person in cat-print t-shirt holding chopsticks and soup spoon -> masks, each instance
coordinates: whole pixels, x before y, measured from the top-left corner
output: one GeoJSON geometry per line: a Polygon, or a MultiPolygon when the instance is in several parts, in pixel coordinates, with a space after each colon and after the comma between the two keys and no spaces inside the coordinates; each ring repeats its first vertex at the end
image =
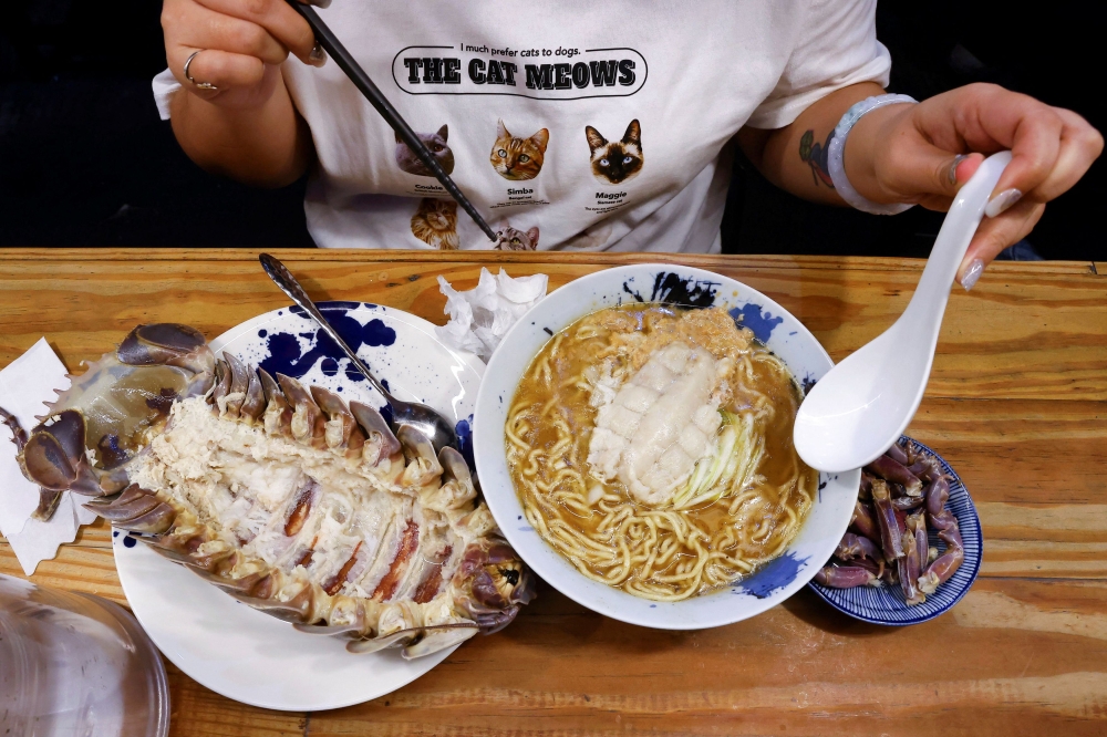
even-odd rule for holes
{"type": "MultiPolygon", "coordinates": [[[[883,214],[948,209],[986,154],[1011,149],[958,273],[971,288],[1103,137],[995,85],[887,95],[875,14],[875,0],[337,0],[321,13],[499,248],[718,252],[733,145],[795,195],[883,214]]],[[[260,186],[310,168],[321,247],[493,246],[284,0],[165,0],[162,24],[155,96],[199,166],[260,186]]]]}

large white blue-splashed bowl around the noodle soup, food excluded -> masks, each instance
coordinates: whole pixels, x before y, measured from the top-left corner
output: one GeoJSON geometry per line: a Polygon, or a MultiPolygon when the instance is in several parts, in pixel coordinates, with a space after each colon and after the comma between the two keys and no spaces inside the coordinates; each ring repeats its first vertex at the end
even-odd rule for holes
{"type": "Polygon", "coordinates": [[[788,549],[749,578],[710,595],[652,602],[580,574],[527,523],[507,469],[504,426],[527,366],[551,335],[596,310],[627,302],[726,307],[779,356],[805,387],[832,362],[815,336],[779,304],[745,284],[702,269],[640,264],[578,279],[539,302],[508,332],[485,371],[475,408],[477,474],[496,521],[519,556],[558,591],[615,620],[663,630],[738,622],[801,589],[841,540],[857,499],[860,469],[819,476],[815,505],[788,549]]]}

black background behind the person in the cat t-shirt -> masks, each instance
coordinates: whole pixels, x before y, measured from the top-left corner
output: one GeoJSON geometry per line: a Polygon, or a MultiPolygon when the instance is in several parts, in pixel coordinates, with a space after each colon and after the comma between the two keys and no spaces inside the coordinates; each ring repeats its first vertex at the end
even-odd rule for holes
{"type": "MultiPolygon", "coordinates": [[[[877,29],[892,54],[890,89],[921,100],[995,82],[1103,129],[1095,50],[1104,42],[1087,8],[882,2],[877,29]]],[[[208,175],[158,120],[151,79],[165,68],[159,12],[152,0],[6,3],[0,246],[312,246],[303,181],[261,190],[208,175]]],[[[1022,257],[1101,258],[1093,222],[1107,199],[1105,176],[1097,163],[1051,204],[1022,257]]],[[[738,162],[723,243],[727,252],[924,257],[941,219],[922,208],[879,218],[811,205],[738,162]]]]}

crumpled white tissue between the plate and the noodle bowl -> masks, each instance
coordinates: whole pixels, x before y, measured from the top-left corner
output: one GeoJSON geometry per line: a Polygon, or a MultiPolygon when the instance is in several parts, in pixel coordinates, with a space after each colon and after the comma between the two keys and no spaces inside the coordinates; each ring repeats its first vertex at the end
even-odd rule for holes
{"type": "Polygon", "coordinates": [[[487,361],[511,325],[546,297],[548,284],[544,273],[513,279],[503,269],[494,277],[483,268],[476,289],[459,292],[438,277],[449,322],[435,328],[435,333],[443,343],[487,361]]]}

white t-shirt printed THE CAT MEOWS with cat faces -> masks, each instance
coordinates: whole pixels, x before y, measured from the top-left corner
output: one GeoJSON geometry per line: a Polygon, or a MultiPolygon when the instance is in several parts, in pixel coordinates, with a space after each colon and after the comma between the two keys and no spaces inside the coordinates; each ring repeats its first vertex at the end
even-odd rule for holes
{"type": "MultiPolygon", "coordinates": [[[[717,252],[727,143],[887,84],[875,0],[335,0],[320,12],[505,246],[717,252]],[[514,242],[513,242],[514,241],[514,242]]],[[[489,248],[333,60],[284,82],[328,248],[489,248]]],[[[163,117],[179,89],[154,83],[163,117]]],[[[797,153],[798,155],[798,153],[797,153]]]]}

